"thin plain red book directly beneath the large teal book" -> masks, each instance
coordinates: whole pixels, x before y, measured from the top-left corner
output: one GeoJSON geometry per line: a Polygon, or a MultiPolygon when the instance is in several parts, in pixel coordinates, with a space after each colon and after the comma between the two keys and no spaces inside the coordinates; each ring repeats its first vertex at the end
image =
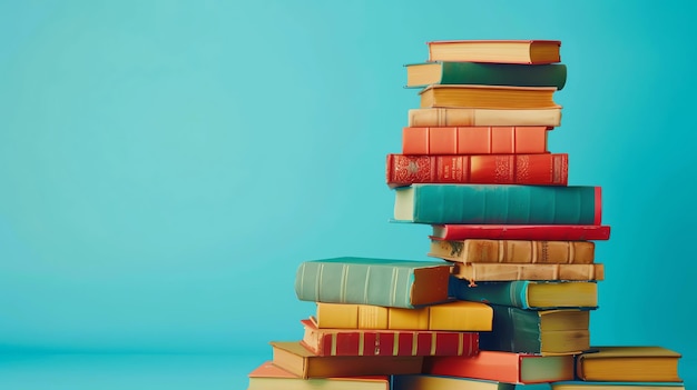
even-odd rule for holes
{"type": "Polygon", "coordinates": [[[433,224],[431,238],[439,240],[542,240],[591,241],[610,239],[602,224],[433,224]]]}

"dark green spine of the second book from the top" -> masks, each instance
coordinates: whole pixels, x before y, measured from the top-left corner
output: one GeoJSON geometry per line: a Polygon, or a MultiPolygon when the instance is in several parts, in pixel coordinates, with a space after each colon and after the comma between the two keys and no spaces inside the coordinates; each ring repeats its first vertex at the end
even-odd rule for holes
{"type": "Polygon", "coordinates": [[[442,62],[441,84],[556,87],[567,82],[565,64],[442,62]]]}

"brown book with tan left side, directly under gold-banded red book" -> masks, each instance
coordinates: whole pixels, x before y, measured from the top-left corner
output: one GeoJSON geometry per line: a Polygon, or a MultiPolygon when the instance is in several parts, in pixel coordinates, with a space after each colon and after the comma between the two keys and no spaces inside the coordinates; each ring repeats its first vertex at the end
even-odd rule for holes
{"type": "Polygon", "coordinates": [[[271,344],[273,364],[304,379],[420,373],[423,362],[423,357],[320,357],[300,341],[272,341],[271,344]]]}

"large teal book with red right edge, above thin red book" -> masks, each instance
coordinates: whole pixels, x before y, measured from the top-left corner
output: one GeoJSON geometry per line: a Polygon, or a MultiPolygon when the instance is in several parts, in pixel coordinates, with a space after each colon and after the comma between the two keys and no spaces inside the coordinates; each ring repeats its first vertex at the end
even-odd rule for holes
{"type": "Polygon", "coordinates": [[[411,184],[394,189],[395,222],[600,224],[592,186],[411,184]]]}

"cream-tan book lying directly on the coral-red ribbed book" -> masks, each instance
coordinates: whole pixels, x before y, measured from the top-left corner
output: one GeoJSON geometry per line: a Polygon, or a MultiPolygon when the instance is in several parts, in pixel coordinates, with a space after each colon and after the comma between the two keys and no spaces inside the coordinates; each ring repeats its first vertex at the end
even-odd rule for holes
{"type": "Polygon", "coordinates": [[[518,110],[423,108],[409,110],[409,127],[443,126],[561,126],[561,108],[518,110]]]}

